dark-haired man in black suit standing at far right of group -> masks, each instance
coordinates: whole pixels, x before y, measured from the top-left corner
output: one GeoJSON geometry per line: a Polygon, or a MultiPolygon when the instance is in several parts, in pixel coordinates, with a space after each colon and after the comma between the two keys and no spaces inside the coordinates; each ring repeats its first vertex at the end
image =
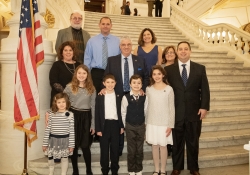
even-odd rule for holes
{"type": "Polygon", "coordinates": [[[209,110],[210,91],[205,66],[190,61],[191,47],[186,41],[177,46],[178,61],[166,66],[167,79],[175,94],[175,127],[173,132],[173,171],[184,169],[185,144],[187,167],[200,175],[198,165],[202,119],[209,110]]]}

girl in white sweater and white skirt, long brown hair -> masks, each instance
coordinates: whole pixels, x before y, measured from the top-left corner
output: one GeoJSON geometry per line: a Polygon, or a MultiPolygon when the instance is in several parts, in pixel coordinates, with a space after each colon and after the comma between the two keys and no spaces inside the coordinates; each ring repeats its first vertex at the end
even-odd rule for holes
{"type": "Polygon", "coordinates": [[[168,85],[166,72],[160,65],[152,67],[146,95],[148,96],[146,141],[152,144],[155,166],[153,175],[165,175],[168,157],[166,145],[173,144],[172,128],[175,123],[175,108],[173,89],[168,85]]]}

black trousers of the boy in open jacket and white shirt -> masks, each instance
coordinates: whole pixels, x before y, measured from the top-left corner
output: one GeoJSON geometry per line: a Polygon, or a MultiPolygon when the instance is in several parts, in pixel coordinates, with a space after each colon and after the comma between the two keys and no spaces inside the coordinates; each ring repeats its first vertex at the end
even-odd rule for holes
{"type": "Polygon", "coordinates": [[[108,174],[109,169],[113,175],[118,174],[119,169],[119,135],[118,120],[105,120],[104,131],[100,137],[102,174],[108,174]],[[109,168],[109,157],[111,166],[109,168]]]}

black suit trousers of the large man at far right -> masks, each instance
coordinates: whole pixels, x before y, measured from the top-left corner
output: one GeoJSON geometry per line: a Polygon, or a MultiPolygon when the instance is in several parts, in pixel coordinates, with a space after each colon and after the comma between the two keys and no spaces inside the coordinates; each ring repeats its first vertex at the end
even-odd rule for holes
{"type": "Polygon", "coordinates": [[[202,121],[180,121],[175,123],[173,133],[173,169],[184,169],[185,144],[187,149],[187,168],[199,170],[199,138],[201,134],[202,121]]]}

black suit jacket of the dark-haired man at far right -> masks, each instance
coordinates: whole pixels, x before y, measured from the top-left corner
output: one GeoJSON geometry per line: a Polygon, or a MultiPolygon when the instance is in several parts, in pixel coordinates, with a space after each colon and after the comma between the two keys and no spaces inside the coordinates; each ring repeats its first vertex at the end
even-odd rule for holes
{"type": "Polygon", "coordinates": [[[183,84],[178,61],[164,68],[175,95],[175,122],[199,121],[199,109],[209,110],[210,91],[203,65],[190,61],[190,73],[186,87],[183,84]]]}

